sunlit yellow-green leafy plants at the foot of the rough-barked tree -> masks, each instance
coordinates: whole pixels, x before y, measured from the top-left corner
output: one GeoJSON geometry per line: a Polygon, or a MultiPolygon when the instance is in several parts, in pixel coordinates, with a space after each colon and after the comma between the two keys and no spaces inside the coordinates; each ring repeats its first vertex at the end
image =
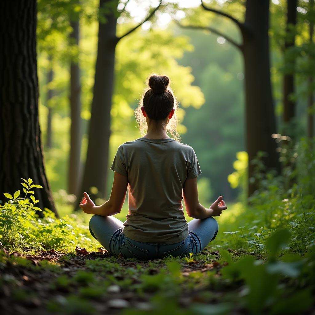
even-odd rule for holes
{"type": "Polygon", "coordinates": [[[0,205],[1,246],[7,249],[72,249],[76,244],[91,246],[91,239],[85,235],[87,227],[76,215],[56,218],[49,209],[39,218],[37,212],[42,209],[35,206],[39,202],[34,197],[34,188],[43,188],[33,181],[23,179],[24,198],[20,190],[13,196],[4,193],[9,202],[0,205]]]}

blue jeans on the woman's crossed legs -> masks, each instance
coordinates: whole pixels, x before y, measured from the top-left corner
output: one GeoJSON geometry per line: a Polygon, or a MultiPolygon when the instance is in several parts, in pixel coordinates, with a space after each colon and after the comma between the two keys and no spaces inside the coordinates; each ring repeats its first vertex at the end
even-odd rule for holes
{"type": "Polygon", "coordinates": [[[89,229],[104,248],[112,255],[122,254],[124,258],[156,259],[168,255],[179,257],[193,253],[200,253],[215,239],[219,226],[215,218],[193,219],[188,222],[188,236],[181,242],[148,243],[134,241],[123,234],[123,222],[113,216],[104,217],[93,215],[89,229]]]}

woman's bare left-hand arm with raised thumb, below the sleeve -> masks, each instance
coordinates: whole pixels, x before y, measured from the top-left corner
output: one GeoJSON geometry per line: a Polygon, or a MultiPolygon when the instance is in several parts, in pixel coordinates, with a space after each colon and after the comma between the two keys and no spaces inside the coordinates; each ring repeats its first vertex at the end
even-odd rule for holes
{"type": "Polygon", "coordinates": [[[80,207],[85,213],[93,215],[110,216],[121,211],[126,198],[128,186],[128,177],[115,172],[112,186],[111,196],[109,200],[100,206],[95,206],[95,203],[90,199],[89,195],[84,192],[84,198],[80,203],[80,207]]]}

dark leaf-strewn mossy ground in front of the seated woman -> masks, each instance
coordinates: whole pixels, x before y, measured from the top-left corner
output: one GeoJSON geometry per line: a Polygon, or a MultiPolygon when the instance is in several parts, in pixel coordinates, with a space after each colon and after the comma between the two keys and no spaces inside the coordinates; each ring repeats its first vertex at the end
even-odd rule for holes
{"type": "MultiPolygon", "coordinates": [[[[233,252],[232,257],[243,255],[233,252]]],[[[218,252],[140,261],[107,251],[1,252],[2,314],[233,314],[242,285],[218,284],[218,252]]],[[[219,281],[220,283],[221,281],[219,281]]]]}

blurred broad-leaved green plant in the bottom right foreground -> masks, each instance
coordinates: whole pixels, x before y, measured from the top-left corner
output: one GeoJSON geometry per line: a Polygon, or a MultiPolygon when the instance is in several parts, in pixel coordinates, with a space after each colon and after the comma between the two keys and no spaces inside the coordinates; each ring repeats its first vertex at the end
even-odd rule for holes
{"type": "MultiPolygon", "coordinates": [[[[283,243],[289,241],[289,230],[283,229],[275,232],[268,239],[267,247],[270,255],[275,255],[283,243]]],[[[297,293],[292,293],[289,286],[281,286],[283,277],[298,278],[302,276],[302,266],[307,265],[309,257],[302,259],[295,256],[293,261],[260,261],[253,256],[243,256],[234,262],[227,251],[220,251],[223,260],[228,261],[228,266],[221,270],[222,277],[229,281],[243,281],[241,297],[245,306],[251,314],[296,314],[303,312],[312,305],[312,295],[309,288],[302,289],[297,293]],[[291,295],[293,294],[293,295],[291,295]],[[286,297],[291,295],[293,301],[286,301],[286,297]],[[296,305],[298,299],[301,298],[296,305]]],[[[274,257],[274,256],[271,256],[274,257]]],[[[305,278],[299,279],[301,284],[305,283],[305,278]]],[[[310,277],[307,277],[308,284],[311,284],[310,277]]]]}

